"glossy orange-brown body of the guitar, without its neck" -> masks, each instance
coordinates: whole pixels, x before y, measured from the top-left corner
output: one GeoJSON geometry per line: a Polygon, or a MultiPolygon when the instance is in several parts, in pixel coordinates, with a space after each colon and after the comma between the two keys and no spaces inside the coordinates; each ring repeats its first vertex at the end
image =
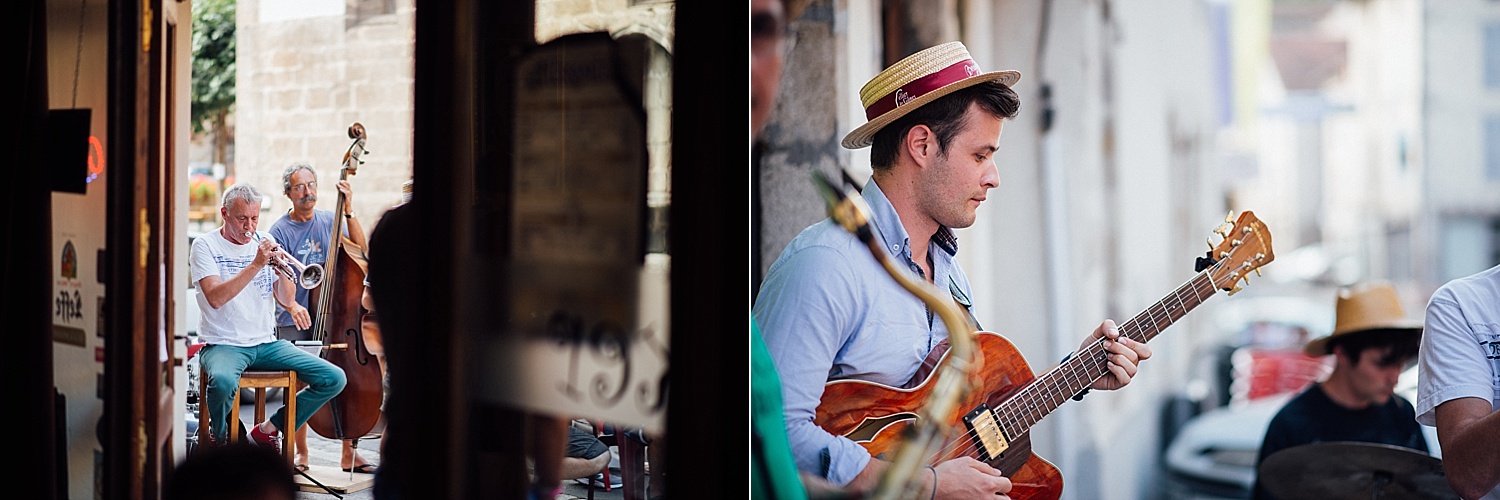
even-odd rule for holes
{"type": "MultiPolygon", "coordinates": [[[[958,456],[974,456],[974,446],[969,446],[963,435],[962,417],[964,413],[987,405],[998,408],[1012,393],[1036,378],[1026,359],[1016,350],[1016,345],[1004,336],[992,332],[976,332],[974,363],[976,371],[975,389],[963,402],[957,405],[957,413],[946,422],[956,429],[944,441],[940,452],[928,459],[928,464],[939,464],[958,456]],[[958,441],[958,443],[956,443],[958,441]]],[[[934,381],[927,377],[932,366],[938,366],[946,357],[946,345],[934,348],[916,372],[914,380],[921,383],[910,387],[891,387],[862,380],[836,380],[824,386],[824,396],[818,404],[818,414],[813,422],[828,432],[844,435],[870,450],[872,455],[894,456],[900,446],[903,431],[916,423],[916,413],[934,381]]],[[[1011,479],[1014,489],[1011,498],[1041,498],[1054,500],[1062,495],[1062,473],[1058,467],[1030,452],[1030,432],[1010,437],[1010,447],[987,461],[1011,479]]]]}

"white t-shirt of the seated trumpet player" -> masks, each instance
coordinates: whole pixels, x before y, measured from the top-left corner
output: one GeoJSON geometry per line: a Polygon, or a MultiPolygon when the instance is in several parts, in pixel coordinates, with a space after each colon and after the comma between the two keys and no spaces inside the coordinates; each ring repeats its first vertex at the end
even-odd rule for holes
{"type": "MultiPolygon", "coordinates": [[[[230,281],[242,269],[255,261],[255,249],[260,246],[254,239],[244,245],[236,245],[224,239],[224,228],[204,234],[192,242],[192,281],[198,282],[204,276],[219,276],[219,281],[230,281]]],[[[261,239],[268,239],[266,233],[258,233],[261,239]]],[[[272,285],[276,282],[276,272],[272,266],[264,266],[244,290],[214,309],[208,305],[208,294],[198,294],[198,311],[202,321],[198,326],[198,338],[206,344],[250,347],[276,341],[276,299],[272,296],[272,285]]]]}

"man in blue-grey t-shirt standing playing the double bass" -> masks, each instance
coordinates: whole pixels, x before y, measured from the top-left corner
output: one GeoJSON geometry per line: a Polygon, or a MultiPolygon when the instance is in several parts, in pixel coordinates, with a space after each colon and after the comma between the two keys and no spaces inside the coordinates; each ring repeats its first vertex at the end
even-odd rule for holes
{"type": "MultiPolygon", "coordinates": [[[[340,234],[356,246],[364,248],[364,228],[358,216],[354,215],[354,191],[348,180],[339,180],[338,189],[344,194],[344,213],[334,215],[332,210],[320,210],[318,206],[318,173],[308,164],[292,164],[282,170],[282,194],[291,200],[286,215],[272,224],[272,237],[292,258],[306,266],[327,266],[328,248],[333,242],[333,224],[342,222],[340,234]]],[[[302,311],[308,308],[309,290],[297,287],[297,305],[302,311]]],[[[288,341],[312,339],[312,330],[296,321],[297,309],[279,308],[276,311],[276,336],[288,341]]],[[[356,473],[375,473],[370,464],[354,450],[351,440],[344,440],[340,468],[356,473]]],[[[297,429],[296,465],[298,470],[308,468],[308,429],[297,429]]]]}

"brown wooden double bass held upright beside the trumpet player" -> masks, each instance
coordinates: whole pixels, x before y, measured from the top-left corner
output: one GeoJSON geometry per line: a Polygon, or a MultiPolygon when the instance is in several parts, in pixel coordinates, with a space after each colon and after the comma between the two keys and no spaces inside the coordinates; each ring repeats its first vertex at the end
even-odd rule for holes
{"type": "MultiPolygon", "coordinates": [[[[351,125],[350,138],[352,143],[339,168],[340,182],[358,170],[360,156],[364,155],[364,126],[358,122],[351,125]]],[[[334,216],[344,213],[345,203],[348,200],[339,192],[333,206],[334,216]]],[[[312,338],[322,342],[320,356],[342,368],[348,383],[344,392],[308,419],[308,425],[327,438],[357,440],[380,422],[384,399],[381,368],[360,327],[364,315],[360,305],[364,291],[363,249],[345,242],[344,224],[339,222],[333,224],[328,242],[322,284],[308,296],[309,309],[316,311],[312,338]]]]}

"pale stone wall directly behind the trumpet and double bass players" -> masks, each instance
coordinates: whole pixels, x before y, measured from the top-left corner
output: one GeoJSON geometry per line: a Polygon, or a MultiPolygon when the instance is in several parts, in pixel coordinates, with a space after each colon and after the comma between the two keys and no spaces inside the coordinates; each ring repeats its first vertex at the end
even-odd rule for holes
{"type": "Polygon", "coordinates": [[[348,179],[366,231],[400,201],[400,185],[411,179],[412,0],[360,18],[344,6],[238,5],[234,174],[270,197],[262,228],[291,207],[280,176],[296,162],[318,171],[318,207],[333,209],[354,122],[364,125],[368,153],[348,179]]]}

